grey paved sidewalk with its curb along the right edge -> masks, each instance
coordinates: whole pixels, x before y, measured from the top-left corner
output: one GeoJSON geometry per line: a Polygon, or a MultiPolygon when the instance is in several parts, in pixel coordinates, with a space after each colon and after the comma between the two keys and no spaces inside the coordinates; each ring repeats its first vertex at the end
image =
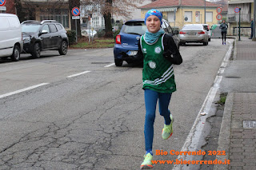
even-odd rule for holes
{"type": "MultiPolygon", "coordinates": [[[[230,61],[226,79],[228,96],[218,140],[218,151],[230,164],[218,164],[219,169],[256,169],[256,42],[241,38],[234,45],[234,60],[230,61]],[[232,75],[232,76],[230,76],[232,75]]],[[[226,71],[225,71],[226,72],[226,71]]],[[[224,91],[225,91],[224,90],[224,91]]]]}

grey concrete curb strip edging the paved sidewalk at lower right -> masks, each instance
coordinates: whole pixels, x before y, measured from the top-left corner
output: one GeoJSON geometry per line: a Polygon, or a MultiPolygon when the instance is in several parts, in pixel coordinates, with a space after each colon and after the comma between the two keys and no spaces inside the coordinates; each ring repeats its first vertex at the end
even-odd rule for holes
{"type": "MultiPolygon", "coordinates": [[[[233,109],[234,93],[228,93],[225,102],[225,109],[222,118],[222,126],[218,137],[218,151],[225,151],[226,156],[216,156],[216,159],[228,160],[230,157],[230,133],[231,133],[231,116],[233,109]]],[[[228,169],[228,164],[215,164],[214,170],[226,170],[228,169]]]]}

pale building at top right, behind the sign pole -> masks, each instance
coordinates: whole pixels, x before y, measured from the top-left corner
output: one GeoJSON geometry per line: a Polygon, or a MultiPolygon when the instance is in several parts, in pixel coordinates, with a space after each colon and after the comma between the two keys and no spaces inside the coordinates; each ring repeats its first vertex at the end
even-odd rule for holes
{"type": "Polygon", "coordinates": [[[230,23],[230,34],[238,34],[239,28],[239,13],[234,11],[235,8],[241,8],[240,11],[240,26],[241,35],[250,35],[250,19],[254,18],[254,0],[229,0],[228,18],[227,22],[230,23]]]}

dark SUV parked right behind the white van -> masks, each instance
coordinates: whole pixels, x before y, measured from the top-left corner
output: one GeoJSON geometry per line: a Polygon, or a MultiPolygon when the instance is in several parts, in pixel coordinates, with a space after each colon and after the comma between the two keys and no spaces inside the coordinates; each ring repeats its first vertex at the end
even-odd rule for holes
{"type": "Polygon", "coordinates": [[[23,53],[31,53],[35,58],[40,57],[42,50],[58,50],[66,55],[69,45],[66,30],[55,20],[22,22],[22,40],[23,53]]]}

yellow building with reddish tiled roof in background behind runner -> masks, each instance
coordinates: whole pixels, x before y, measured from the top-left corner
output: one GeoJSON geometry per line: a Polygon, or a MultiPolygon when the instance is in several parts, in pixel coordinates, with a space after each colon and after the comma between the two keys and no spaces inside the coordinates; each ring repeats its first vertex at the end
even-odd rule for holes
{"type": "Polygon", "coordinates": [[[217,7],[219,7],[218,4],[204,0],[157,0],[139,8],[142,10],[142,18],[146,11],[154,8],[162,12],[163,18],[170,22],[170,26],[181,29],[186,24],[202,24],[205,22],[205,18],[206,24],[210,26],[217,24],[217,7]]]}

